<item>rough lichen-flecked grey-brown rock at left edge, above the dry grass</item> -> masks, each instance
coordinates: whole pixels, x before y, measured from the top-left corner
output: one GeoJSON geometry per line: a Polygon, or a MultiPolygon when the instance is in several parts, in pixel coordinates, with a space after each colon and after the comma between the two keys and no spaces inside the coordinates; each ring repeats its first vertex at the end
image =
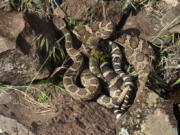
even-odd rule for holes
{"type": "Polygon", "coordinates": [[[7,84],[26,84],[33,79],[49,76],[49,71],[42,68],[39,59],[24,55],[19,50],[9,50],[0,54],[0,82],[7,84]]]}

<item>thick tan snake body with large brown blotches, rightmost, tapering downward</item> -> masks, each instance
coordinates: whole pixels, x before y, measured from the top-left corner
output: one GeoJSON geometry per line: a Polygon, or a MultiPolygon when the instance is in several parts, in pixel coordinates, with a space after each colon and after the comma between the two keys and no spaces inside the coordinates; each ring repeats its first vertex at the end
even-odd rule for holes
{"type": "Polygon", "coordinates": [[[124,47],[127,61],[138,72],[138,89],[143,89],[149,74],[154,70],[152,65],[152,61],[155,59],[153,48],[147,41],[128,34],[122,34],[114,42],[124,47]]]}

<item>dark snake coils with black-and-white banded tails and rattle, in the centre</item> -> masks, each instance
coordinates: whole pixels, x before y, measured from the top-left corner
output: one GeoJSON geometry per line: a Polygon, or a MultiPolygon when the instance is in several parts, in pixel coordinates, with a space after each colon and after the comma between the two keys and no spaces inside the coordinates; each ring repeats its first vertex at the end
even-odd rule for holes
{"type": "Polygon", "coordinates": [[[133,93],[136,93],[136,87],[133,84],[131,77],[121,70],[122,52],[118,45],[110,41],[109,45],[103,44],[102,48],[96,49],[96,56],[94,57],[92,55],[94,53],[91,52],[89,69],[92,73],[108,83],[110,97],[102,95],[102,98],[99,98],[98,101],[100,99],[106,99],[107,101],[114,100],[118,103],[118,105],[115,106],[116,110],[114,112],[117,114],[117,118],[119,118],[129,107],[130,98],[133,97],[133,93]],[[104,47],[108,47],[108,49],[106,48],[109,50],[108,54],[111,53],[112,65],[115,72],[110,66],[110,63],[102,56],[102,48],[104,47]],[[98,59],[100,60],[98,61],[98,59]]]}

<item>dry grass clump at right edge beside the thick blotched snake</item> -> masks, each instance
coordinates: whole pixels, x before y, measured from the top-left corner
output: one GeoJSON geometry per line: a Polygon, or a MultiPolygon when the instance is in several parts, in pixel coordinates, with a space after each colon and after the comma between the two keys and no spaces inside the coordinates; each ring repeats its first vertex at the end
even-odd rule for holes
{"type": "MultiPolygon", "coordinates": [[[[159,61],[156,64],[156,69],[159,74],[164,78],[168,78],[168,82],[176,79],[171,76],[177,74],[180,69],[180,35],[177,33],[172,34],[157,34],[154,40],[158,40],[161,44],[155,45],[159,50],[159,61]]],[[[153,41],[154,41],[153,40],[153,41]]],[[[171,87],[180,83],[180,78],[171,84],[171,87]]]]}

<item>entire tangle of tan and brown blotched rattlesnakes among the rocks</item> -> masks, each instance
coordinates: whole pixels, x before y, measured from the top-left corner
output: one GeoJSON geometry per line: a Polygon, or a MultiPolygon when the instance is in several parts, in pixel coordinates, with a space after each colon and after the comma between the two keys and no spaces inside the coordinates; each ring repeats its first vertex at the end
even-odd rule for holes
{"type": "MultiPolygon", "coordinates": [[[[113,68],[111,68],[107,61],[99,62],[90,56],[92,50],[98,48],[100,39],[104,40],[112,35],[114,25],[108,21],[85,25],[73,31],[83,43],[79,50],[84,50],[85,55],[89,57],[90,61],[89,69],[82,71],[85,62],[84,55],[82,55],[79,50],[74,49],[70,32],[66,29],[66,23],[59,16],[53,18],[53,23],[58,30],[63,32],[66,51],[73,60],[73,65],[66,70],[63,77],[63,84],[66,91],[74,99],[79,101],[97,99],[99,104],[107,108],[115,107],[116,118],[119,119],[121,114],[129,107],[130,97],[135,92],[135,86],[131,77],[121,70],[122,58],[117,44],[124,47],[128,62],[132,64],[139,73],[141,88],[144,87],[148,74],[153,70],[151,58],[154,58],[154,52],[152,48],[147,42],[137,37],[126,34],[121,35],[114,42],[109,41],[113,65],[113,68]],[[92,66],[94,63],[96,65],[94,66],[95,68],[92,66]],[[81,74],[81,83],[84,88],[76,84],[79,74],[81,74]],[[101,93],[101,86],[98,78],[108,83],[109,96],[101,93]]],[[[101,52],[101,50],[98,51],[101,52]]]]}

